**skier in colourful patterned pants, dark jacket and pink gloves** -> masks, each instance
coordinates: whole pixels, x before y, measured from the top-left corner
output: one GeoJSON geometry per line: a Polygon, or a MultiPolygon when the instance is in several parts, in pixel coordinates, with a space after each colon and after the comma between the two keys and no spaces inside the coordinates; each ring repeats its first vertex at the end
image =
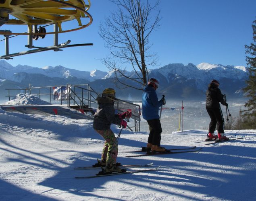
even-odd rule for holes
{"type": "Polygon", "coordinates": [[[127,122],[123,119],[131,116],[129,112],[115,115],[114,98],[115,90],[112,88],[106,88],[102,93],[102,97],[98,96],[96,98],[98,108],[94,114],[93,127],[95,131],[105,139],[101,160],[98,160],[98,163],[94,166],[105,166],[105,168],[103,168],[105,172],[121,172],[121,168],[116,166],[118,148],[116,137],[110,129],[110,125],[113,123],[125,128],[127,126],[127,122]]]}

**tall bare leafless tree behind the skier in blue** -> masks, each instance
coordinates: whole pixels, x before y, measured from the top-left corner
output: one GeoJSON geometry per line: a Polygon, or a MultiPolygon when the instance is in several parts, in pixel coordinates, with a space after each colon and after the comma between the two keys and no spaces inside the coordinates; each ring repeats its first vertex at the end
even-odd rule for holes
{"type": "Polygon", "coordinates": [[[115,73],[116,83],[123,88],[142,90],[148,81],[147,66],[156,65],[158,59],[149,51],[152,47],[149,36],[159,27],[159,1],[150,1],[154,2],[153,5],[148,0],[110,1],[117,5],[118,10],[100,24],[99,34],[110,50],[110,55],[102,62],[115,73]],[[125,65],[133,68],[132,74],[125,70],[125,65]]]}

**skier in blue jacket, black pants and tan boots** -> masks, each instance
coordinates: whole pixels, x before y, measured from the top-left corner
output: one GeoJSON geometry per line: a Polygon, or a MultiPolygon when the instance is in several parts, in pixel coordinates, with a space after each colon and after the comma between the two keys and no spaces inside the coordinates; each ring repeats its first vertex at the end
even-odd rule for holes
{"type": "Polygon", "coordinates": [[[159,82],[150,78],[148,86],[144,88],[142,94],[142,117],[147,120],[149,125],[149,136],[147,148],[156,152],[165,152],[164,147],[160,147],[162,127],[158,115],[159,107],[165,105],[165,99],[158,100],[156,89],[159,82]]]}

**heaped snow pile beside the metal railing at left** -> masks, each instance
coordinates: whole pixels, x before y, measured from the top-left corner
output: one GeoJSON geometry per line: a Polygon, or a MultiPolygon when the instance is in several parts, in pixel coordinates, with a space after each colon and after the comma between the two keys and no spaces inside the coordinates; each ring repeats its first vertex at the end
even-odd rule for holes
{"type": "Polygon", "coordinates": [[[4,105],[52,105],[37,96],[19,93],[12,100],[7,101],[4,105]]]}

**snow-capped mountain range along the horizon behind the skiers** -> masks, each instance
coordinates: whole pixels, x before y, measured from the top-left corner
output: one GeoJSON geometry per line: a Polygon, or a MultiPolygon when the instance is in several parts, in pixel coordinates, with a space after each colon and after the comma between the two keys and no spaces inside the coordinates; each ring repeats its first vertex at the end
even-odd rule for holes
{"type": "MultiPolygon", "coordinates": [[[[135,72],[127,72],[135,76],[135,72]]],[[[5,88],[25,88],[33,86],[56,86],[64,84],[90,84],[94,90],[100,92],[106,87],[115,87],[113,72],[100,70],[79,71],[63,66],[46,66],[37,68],[27,65],[12,66],[8,62],[0,61],[0,85],[5,88]]],[[[248,78],[244,66],[223,66],[221,64],[201,63],[168,64],[161,68],[149,70],[149,76],[160,81],[158,93],[169,94],[175,98],[203,97],[210,80],[221,82],[225,93],[231,96],[242,96],[242,88],[248,78]]],[[[118,89],[117,89],[118,91],[118,89]]],[[[123,96],[134,94],[141,97],[141,91],[132,92],[131,88],[120,90],[123,96]]]]}

